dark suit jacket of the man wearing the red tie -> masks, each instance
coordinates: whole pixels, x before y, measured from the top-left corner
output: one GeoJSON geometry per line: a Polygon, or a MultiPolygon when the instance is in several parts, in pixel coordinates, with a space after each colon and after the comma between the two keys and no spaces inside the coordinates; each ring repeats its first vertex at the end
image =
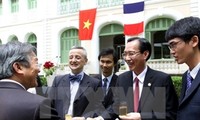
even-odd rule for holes
{"type": "MultiPolygon", "coordinates": [[[[114,110],[119,114],[119,105],[126,102],[128,113],[133,112],[133,76],[132,71],[118,77],[114,110]]],[[[140,96],[138,111],[142,120],[175,120],[178,98],[171,77],[148,67],[140,96]]]]}

